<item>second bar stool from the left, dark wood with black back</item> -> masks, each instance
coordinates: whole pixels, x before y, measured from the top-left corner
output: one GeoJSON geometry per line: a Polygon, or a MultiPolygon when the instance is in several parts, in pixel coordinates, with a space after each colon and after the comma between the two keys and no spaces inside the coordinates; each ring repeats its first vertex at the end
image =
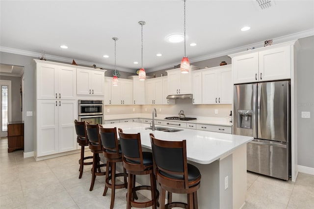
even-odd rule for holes
{"type": "Polygon", "coordinates": [[[93,190],[96,176],[105,176],[105,172],[101,171],[101,167],[106,166],[106,164],[100,164],[99,154],[103,153],[102,141],[99,137],[99,132],[97,125],[86,125],[89,149],[93,153],[93,167],[92,167],[92,182],[89,191],[93,190]]]}

